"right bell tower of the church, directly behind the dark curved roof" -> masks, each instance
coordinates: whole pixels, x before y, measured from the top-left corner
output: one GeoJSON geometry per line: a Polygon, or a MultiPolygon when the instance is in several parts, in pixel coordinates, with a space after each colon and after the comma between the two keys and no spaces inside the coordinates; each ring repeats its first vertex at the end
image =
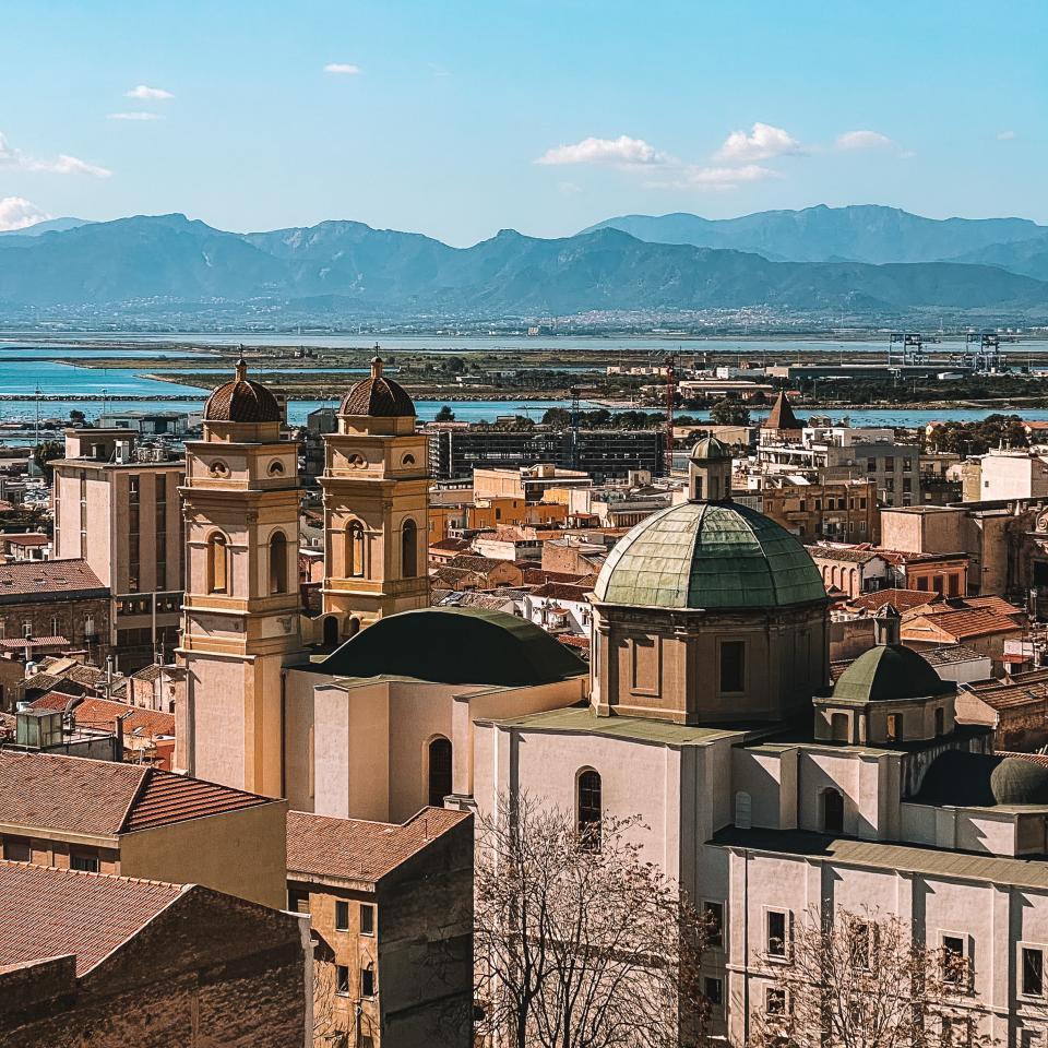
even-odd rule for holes
{"type": "MultiPolygon", "coordinates": [[[[376,347],[378,348],[378,347],[376,347]]],[[[415,404],[371,361],[324,438],[324,641],[429,607],[429,451],[415,404]]]]}

